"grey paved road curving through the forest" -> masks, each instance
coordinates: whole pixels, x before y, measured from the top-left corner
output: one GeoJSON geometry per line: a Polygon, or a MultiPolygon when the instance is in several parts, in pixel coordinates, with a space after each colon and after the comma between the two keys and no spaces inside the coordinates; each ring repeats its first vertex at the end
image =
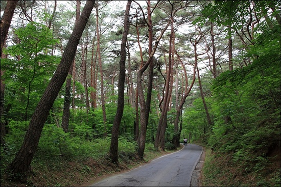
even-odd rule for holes
{"type": "Polygon", "coordinates": [[[191,186],[192,174],[202,151],[203,147],[188,144],[177,152],[154,159],[149,164],[89,186],[191,186]]]}

